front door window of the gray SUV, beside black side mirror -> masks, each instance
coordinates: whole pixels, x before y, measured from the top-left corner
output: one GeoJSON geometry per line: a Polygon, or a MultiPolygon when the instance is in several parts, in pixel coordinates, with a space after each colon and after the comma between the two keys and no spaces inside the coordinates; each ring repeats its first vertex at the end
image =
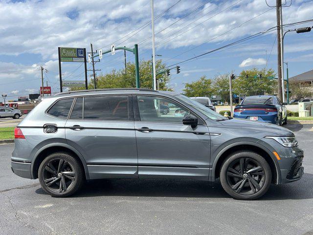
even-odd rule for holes
{"type": "Polygon", "coordinates": [[[155,96],[137,96],[141,121],[167,122],[182,124],[182,118],[190,114],[178,103],[155,96]]]}

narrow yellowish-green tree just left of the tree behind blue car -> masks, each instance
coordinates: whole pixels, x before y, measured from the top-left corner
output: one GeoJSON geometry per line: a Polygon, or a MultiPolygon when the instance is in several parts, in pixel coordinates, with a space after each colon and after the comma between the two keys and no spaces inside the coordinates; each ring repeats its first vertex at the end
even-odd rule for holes
{"type": "Polygon", "coordinates": [[[219,94],[223,101],[229,100],[229,76],[230,73],[224,73],[214,77],[214,94],[219,94]]]}

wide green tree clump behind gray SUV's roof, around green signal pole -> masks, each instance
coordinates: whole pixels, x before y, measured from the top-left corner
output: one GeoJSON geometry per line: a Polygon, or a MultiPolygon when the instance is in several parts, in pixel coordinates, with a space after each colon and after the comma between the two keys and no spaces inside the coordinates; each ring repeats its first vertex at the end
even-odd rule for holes
{"type": "MultiPolygon", "coordinates": [[[[166,65],[162,63],[161,60],[156,61],[156,71],[162,71],[166,65]]],[[[97,89],[110,89],[110,88],[134,88],[136,87],[135,79],[135,64],[127,63],[125,69],[112,70],[107,74],[100,74],[96,76],[97,78],[97,89]]],[[[142,60],[139,63],[139,77],[140,77],[140,87],[152,89],[153,78],[152,78],[152,62],[151,60],[142,60]]],[[[173,91],[169,87],[170,77],[166,73],[157,76],[159,79],[159,90],[163,91],[173,91]]],[[[93,78],[90,79],[88,84],[88,89],[93,89],[93,78]]],[[[74,88],[73,90],[84,90],[84,88],[74,88]]]]}

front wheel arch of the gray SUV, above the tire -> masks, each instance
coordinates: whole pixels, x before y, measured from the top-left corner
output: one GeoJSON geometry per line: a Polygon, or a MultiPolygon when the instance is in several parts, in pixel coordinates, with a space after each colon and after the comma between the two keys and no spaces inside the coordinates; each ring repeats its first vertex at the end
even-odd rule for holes
{"type": "Polygon", "coordinates": [[[210,181],[215,181],[215,179],[219,178],[220,170],[225,158],[227,158],[229,154],[238,150],[253,151],[264,157],[265,160],[268,162],[273,175],[272,182],[275,184],[280,184],[281,181],[280,167],[275,159],[275,156],[265,146],[256,142],[249,141],[241,141],[229,144],[217,154],[212,164],[212,170],[209,178],[210,181]]]}

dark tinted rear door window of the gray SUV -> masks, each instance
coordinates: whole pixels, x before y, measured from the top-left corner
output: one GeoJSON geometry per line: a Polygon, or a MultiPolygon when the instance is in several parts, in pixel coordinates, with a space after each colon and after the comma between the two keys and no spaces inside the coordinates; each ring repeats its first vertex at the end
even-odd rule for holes
{"type": "Polygon", "coordinates": [[[126,95],[85,97],[84,119],[128,120],[128,97],[126,95]]]}

